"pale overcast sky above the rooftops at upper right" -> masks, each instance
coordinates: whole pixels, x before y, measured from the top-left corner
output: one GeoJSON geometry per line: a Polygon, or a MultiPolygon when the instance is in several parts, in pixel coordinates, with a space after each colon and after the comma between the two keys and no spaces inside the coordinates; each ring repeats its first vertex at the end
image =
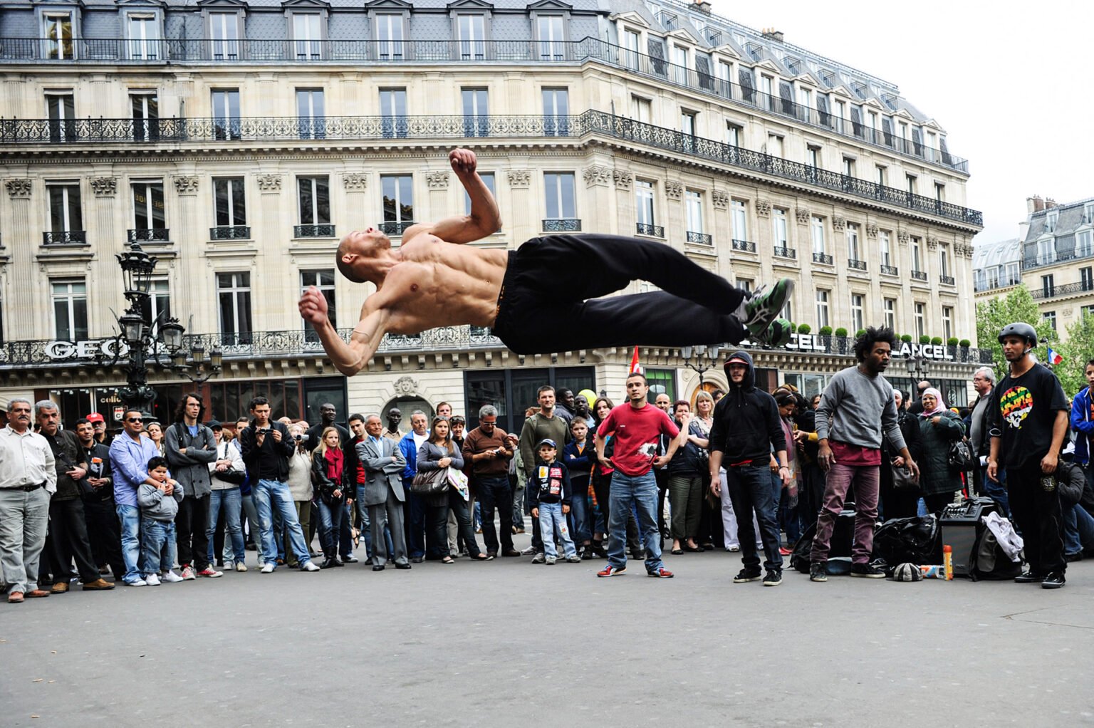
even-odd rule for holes
{"type": "Polygon", "coordinates": [[[969,160],[974,242],[1017,236],[1026,197],[1094,197],[1094,3],[712,0],[712,10],[886,81],[969,160]]]}

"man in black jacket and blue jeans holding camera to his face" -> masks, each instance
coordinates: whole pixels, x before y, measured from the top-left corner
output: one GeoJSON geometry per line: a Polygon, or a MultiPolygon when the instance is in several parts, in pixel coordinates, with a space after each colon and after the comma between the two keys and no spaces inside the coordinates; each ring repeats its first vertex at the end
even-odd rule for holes
{"type": "Polygon", "coordinates": [[[261,573],[270,574],[277,567],[277,542],[274,539],[274,509],[281,515],[292,551],[301,571],[318,571],[296,518],[296,506],[289,490],[289,458],[295,447],[289,428],[270,421],[270,403],[264,396],[251,400],[251,424],[240,434],[243,462],[251,476],[251,493],[258,510],[258,529],[261,531],[261,573]]]}

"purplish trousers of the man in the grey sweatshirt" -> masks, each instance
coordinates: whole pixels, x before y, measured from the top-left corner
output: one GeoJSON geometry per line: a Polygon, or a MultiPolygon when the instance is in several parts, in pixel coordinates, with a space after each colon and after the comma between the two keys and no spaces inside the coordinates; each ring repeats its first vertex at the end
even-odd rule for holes
{"type": "Polygon", "coordinates": [[[833,464],[825,479],[821,516],[817,518],[817,534],[813,538],[811,562],[828,561],[828,546],[836,519],[843,510],[847,489],[854,484],[854,545],[851,561],[856,564],[870,563],[874,547],[874,522],[877,520],[877,487],[881,467],[877,465],[833,464]]]}

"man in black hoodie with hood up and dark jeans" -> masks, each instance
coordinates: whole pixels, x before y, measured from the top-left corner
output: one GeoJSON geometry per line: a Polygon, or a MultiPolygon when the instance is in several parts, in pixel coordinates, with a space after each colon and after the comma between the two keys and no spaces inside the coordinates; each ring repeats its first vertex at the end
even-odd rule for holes
{"type": "Polygon", "coordinates": [[[714,405],[710,428],[710,489],[722,492],[719,470],[725,467],[730,500],[737,515],[741,562],[744,568],[733,583],[760,578],[759,556],[752,516],[755,511],[764,544],[765,587],[782,582],[782,555],[779,554],[779,523],[776,520],[775,493],[771,490],[771,453],[779,460],[782,485],[790,482],[787,464],[787,438],[779,421],[779,407],[767,392],[756,389],[756,372],[747,351],[735,351],[725,361],[730,392],[714,405]]]}

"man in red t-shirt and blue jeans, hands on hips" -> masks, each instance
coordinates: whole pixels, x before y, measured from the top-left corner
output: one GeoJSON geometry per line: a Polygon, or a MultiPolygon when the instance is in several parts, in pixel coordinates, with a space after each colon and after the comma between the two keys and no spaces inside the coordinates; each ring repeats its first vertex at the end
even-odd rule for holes
{"type": "Polygon", "coordinates": [[[645,545],[645,573],[671,579],[673,573],[661,562],[661,534],[657,532],[657,481],[653,467],[673,459],[679,447],[679,429],[663,409],[649,402],[650,385],[645,375],[633,372],[627,378],[627,404],[621,404],[604,418],[596,429],[596,459],[605,467],[614,467],[612,492],[608,494],[608,565],[596,576],[617,576],[627,571],[624,541],[627,515],[638,510],[638,528],[645,545]],[[661,436],[670,438],[668,452],[657,455],[661,436]],[[604,457],[608,437],[615,438],[615,454],[604,457]]]}

